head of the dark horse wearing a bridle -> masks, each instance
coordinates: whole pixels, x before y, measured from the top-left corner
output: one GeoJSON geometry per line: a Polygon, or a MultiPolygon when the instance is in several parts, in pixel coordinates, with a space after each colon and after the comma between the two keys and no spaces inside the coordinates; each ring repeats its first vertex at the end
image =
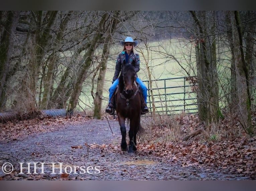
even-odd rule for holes
{"type": "Polygon", "coordinates": [[[122,68],[122,76],[123,76],[123,82],[124,82],[124,87],[123,90],[125,91],[125,94],[128,96],[132,95],[134,93],[134,82],[136,80],[136,72],[135,68],[132,64],[125,64],[122,68]]]}

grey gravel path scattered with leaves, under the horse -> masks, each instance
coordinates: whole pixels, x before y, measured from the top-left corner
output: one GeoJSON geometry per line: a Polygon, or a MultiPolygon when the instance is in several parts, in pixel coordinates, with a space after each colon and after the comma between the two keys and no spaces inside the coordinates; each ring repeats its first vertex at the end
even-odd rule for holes
{"type": "MultiPolygon", "coordinates": [[[[168,158],[159,158],[154,153],[138,150],[130,156],[121,152],[121,134],[118,121],[110,120],[111,132],[107,120],[88,120],[84,124],[67,124],[61,130],[34,134],[24,140],[0,143],[0,164],[9,162],[14,166],[11,174],[5,175],[3,168],[0,176],[4,180],[242,180],[249,179],[229,170],[216,171],[213,166],[200,165],[182,166],[168,158]],[[87,146],[88,145],[88,146],[87,146]],[[20,162],[23,167],[31,162],[31,173],[27,169],[20,172],[20,162]],[[43,162],[44,174],[40,162],[43,162]],[[54,172],[52,172],[54,163],[54,172]],[[76,167],[77,166],[77,167],[76,167]],[[60,174],[62,172],[72,172],[60,174]],[[88,168],[88,169],[87,169],[88,168]]],[[[128,138],[128,129],[127,129],[128,138]]]]}

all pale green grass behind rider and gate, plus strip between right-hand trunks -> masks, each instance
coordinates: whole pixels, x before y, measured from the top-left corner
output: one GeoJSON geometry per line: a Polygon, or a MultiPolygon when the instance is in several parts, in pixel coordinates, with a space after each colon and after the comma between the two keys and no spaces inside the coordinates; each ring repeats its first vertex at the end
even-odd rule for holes
{"type": "MultiPolygon", "coordinates": [[[[156,79],[168,79],[168,78],[177,78],[177,77],[185,77],[188,76],[187,73],[189,73],[190,76],[197,75],[196,74],[196,63],[195,63],[195,47],[190,44],[185,39],[167,39],[165,41],[160,42],[151,42],[149,43],[149,53],[147,54],[147,50],[145,49],[145,46],[139,44],[136,48],[137,52],[139,52],[140,55],[140,71],[138,72],[138,76],[141,80],[147,81],[148,80],[148,72],[145,64],[145,60],[143,58],[143,54],[145,56],[145,59],[148,59],[148,66],[151,72],[151,78],[152,80],[156,79]],[[143,53],[143,54],[142,54],[143,53]],[[175,57],[174,60],[173,57],[175,57]],[[181,64],[181,66],[178,64],[181,64]],[[186,70],[186,72],[183,70],[183,68],[186,70]]],[[[106,72],[106,78],[104,82],[104,90],[103,90],[103,102],[102,102],[102,108],[105,109],[107,103],[108,103],[108,89],[111,86],[112,78],[115,71],[115,59],[118,55],[118,53],[121,51],[121,46],[115,45],[111,48],[111,56],[108,62],[107,66],[107,72],[106,72]]],[[[227,106],[228,103],[228,97],[226,95],[229,95],[230,90],[230,63],[231,63],[231,53],[229,51],[228,47],[217,47],[217,74],[219,78],[219,104],[221,108],[224,108],[227,106]]],[[[90,84],[90,81],[88,82],[90,84]]],[[[148,87],[148,84],[145,83],[148,87]]],[[[179,80],[168,80],[164,81],[156,81],[153,82],[153,89],[156,88],[163,88],[166,87],[177,87],[172,89],[166,89],[166,90],[154,90],[153,94],[173,94],[178,92],[184,92],[184,88],[181,86],[184,85],[184,81],[182,79],[179,80]],[[179,86],[179,87],[178,87],[179,86]]],[[[188,82],[185,82],[185,85],[188,85],[188,82]]],[[[190,88],[185,88],[186,92],[190,92],[190,88]]],[[[96,85],[94,92],[96,92],[96,85]]],[[[191,98],[195,97],[196,94],[186,94],[185,98],[191,98]]],[[[252,95],[252,96],[255,96],[252,95]]],[[[168,95],[168,96],[154,96],[155,103],[157,108],[157,111],[161,111],[162,109],[160,107],[168,107],[168,112],[172,113],[173,110],[176,109],[183,109],[183,106],[176,107],[174,105],[184,104],[184,101],[182,100],[184,98],[184,94],[178,94],[178,95],[168,95]],[[180,99],[177,101],[168,101],[173,99],[180,99]]],[[[86,105],[90,105],[90,107],[93,108],[93,102],[91,97],[91,87],[86,86],[84,89],[84,94],[81,94],[80,99],[83,100],[83,102],[86,105]]],[[[151,100],[148,97],[148,102],[151,100]]],[[[186,100],[185,104],[192,104],[196,100],[186,100]]],[[[80,103],[80,105],[83,108],[89,108],[83,103],[80,103]]],[[[152,105],[148,105],[149,107],[152,107],[152,105]]],[[[196,108],[196,105],[187,106],[187,108],[196,108]]],[[[81,110],[81,109],[80,109],[81,110]]],[[[165,110],[165,108],[164,108],[165,110]]],[[[196,110],[190,110],[190,112],[195,112],[196,110]]],[[[174,113],[179,113],[174,112],[174,113]]]]}

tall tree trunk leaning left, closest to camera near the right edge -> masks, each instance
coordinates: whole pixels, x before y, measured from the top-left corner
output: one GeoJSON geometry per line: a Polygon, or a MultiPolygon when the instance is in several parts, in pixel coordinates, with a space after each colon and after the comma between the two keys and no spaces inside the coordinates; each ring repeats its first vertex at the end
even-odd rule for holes
{"type": "Polygon", "coordinates": [[[244,59],[243,39],[239,11],[231,12],[234,61],[236,65],[236,84],[238,96],[238,118],[248,134],[253,133],[251,121],[251,101],[249,90],[248,69],[244,59]]]}

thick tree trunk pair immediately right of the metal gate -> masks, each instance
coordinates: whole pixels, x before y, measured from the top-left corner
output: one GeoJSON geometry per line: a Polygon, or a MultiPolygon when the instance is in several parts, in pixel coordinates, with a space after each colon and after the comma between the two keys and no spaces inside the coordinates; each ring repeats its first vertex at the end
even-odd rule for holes
{"type": "Polygon", "coordinates": [[[208,127],[223,117],[219,108],[216,61],[215,12],[190,12],[197,26],[196,62],[198,73],[198,111],[208,127]]]}

